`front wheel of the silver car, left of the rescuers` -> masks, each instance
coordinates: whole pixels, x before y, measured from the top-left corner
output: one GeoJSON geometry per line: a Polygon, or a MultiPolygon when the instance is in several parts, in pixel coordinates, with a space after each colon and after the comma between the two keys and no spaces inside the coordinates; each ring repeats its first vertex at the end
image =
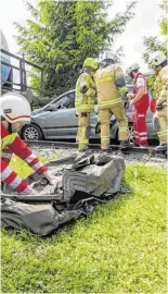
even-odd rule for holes
{"type": "Polygon", "coordinates": [[[38,125],[28,124],[22,130],[22,138],[25,140],[40,140],[43,139],[43,133],[38,125]]]}

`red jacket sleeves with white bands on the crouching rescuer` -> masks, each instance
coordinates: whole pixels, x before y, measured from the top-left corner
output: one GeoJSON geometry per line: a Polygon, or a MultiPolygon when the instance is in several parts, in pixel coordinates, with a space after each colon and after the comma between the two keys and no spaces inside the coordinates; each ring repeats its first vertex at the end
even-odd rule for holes
{"type": "MultiPolygon", "coordinates": [[[[8,135],[9,133],[1,122],[1,139],[8,135]]],[[[16,135],[13,143],[5,146],[1,152],[1,182],[9,184],[16,192],[23,192],[27,187],[27,183],[18,177],[17,174],[9,167],[13,154],[26,161],[27,164],[39,174],[42,174],[48,170],[48,168],[39,161],[39,159],[33,154],[31,149],[27,147],[18,135],[16,135]]]]}

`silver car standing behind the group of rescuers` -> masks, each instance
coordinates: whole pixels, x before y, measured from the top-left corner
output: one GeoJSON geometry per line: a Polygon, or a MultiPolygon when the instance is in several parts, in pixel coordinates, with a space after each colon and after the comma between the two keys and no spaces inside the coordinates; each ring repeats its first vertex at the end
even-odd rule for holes
{"type": "MultiPolygon", "coordinates": [[[[128,86],[132,91],[132,86],[128,86]]],[[[152,95],[150,95],[152,99],[152,95]]],[[[129,120],[129,140],[133,140],[133,109],[127,109],[129,120]]],[[[156,138],[156,132],[152,123],[153,113],[147,111],[146,123],[148,139],[156,138]]],[[[31,112],[30,124],[25,125],[21,136],[26,140],[41,139],[75,139],[78,130],[78,118],[75,111],[75,90],[69,90],[52,100],[47,106],[31,112]]],[[[98,115],[91,113],[90,138],[100,138],[98,134],[98,115]]],[[[118,138],[118,123],[116,118],[111,118],[111,138],[118,138]]]]}

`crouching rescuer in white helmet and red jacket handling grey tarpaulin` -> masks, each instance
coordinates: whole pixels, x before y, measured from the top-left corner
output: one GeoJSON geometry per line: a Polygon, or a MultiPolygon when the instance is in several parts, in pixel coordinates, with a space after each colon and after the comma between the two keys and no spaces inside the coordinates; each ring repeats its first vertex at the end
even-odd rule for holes
{"type": "MultiPolygon", "coordinates": [[[[1,115],[1,182],[10,185],[13,191],[28,195],[36,195],[25,180],[21,179],[10,167],[12,155],[23,159],[38,174],[48,179],[54,185],[55,177],[50,174],[31,149],[20,138],[17,132],[26,123],[30,123],[30,106],[25,97],[8,93],[0,97],[1,115]]],[[[22,167],[21,167],[22,169],[22,167]]]]}

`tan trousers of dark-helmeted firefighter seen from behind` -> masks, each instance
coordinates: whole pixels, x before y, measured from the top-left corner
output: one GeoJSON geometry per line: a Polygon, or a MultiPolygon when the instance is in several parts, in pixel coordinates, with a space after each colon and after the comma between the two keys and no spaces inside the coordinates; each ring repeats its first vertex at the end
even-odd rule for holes
{"type": "Polygon", "coordinates": [[[98,121],[101,124],[101,148],[108,149],[111,142],[111,115],[112,113],[118,121],[118,139],[128,140],[128,119],[122,102],[114,105],[109,108],[100,109],[98,121]]]}

